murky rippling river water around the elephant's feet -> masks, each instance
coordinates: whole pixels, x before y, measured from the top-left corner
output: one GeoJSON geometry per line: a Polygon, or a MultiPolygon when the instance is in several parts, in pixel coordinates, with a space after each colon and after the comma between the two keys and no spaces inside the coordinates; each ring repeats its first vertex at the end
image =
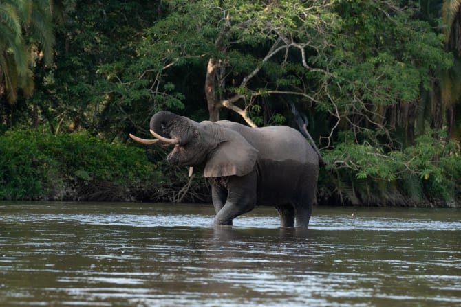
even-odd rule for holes
{"type": "Polygon", "coordinates": [[[461,306],[461,211],[0,203],[0,306],[461,306]],[[352,215],[353,214],[353,215],[352,215]]]}

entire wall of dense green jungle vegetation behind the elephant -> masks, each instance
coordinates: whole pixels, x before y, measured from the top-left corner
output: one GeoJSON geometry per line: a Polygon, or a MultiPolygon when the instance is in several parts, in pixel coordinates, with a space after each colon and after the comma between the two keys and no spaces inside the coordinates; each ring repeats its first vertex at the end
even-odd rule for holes
{"type": "Polygon", "coordinates": [[[295,126],[318,203],[459,206],[461,1],[0,1],[0,199],[209,201],[153,113],[295,126]]]}

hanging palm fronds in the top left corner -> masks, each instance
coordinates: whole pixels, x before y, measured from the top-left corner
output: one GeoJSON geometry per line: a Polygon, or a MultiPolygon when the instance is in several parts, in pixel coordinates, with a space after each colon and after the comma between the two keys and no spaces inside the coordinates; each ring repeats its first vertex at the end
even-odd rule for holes
{"type": "Polygon", "coordinates": [[[14,104],[18,89],[32,95],[32,68],[52,61],[54,32],[52,1],[2,1],[0,3],[0,97],[14,104]]]}

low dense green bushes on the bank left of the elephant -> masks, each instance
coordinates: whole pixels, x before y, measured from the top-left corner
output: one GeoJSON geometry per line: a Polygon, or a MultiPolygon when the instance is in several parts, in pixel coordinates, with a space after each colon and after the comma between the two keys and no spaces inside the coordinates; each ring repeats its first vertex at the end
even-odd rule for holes
{"type": "Polygon", "coordinates": [[[0,199],[85,199],[91,190],[94,198],[122,200],[162,183],[139,148],[87,133],[11,131],[0,137],[0,151],[0,199]]]}

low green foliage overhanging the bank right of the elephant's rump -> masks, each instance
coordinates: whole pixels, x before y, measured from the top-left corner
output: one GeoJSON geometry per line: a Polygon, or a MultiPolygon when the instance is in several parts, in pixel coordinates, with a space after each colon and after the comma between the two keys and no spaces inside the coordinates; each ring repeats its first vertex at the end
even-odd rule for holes
{"type": "Polygon", "coordinates": [[[460,148],[434,138],[435,133],[418,137],[402,151],[341,143],[323,157],[328,161],[323,177],[334,174],[330,192],[323,193],[336,193],[354,205],[453,205],[461,196],[460,148]]]}

